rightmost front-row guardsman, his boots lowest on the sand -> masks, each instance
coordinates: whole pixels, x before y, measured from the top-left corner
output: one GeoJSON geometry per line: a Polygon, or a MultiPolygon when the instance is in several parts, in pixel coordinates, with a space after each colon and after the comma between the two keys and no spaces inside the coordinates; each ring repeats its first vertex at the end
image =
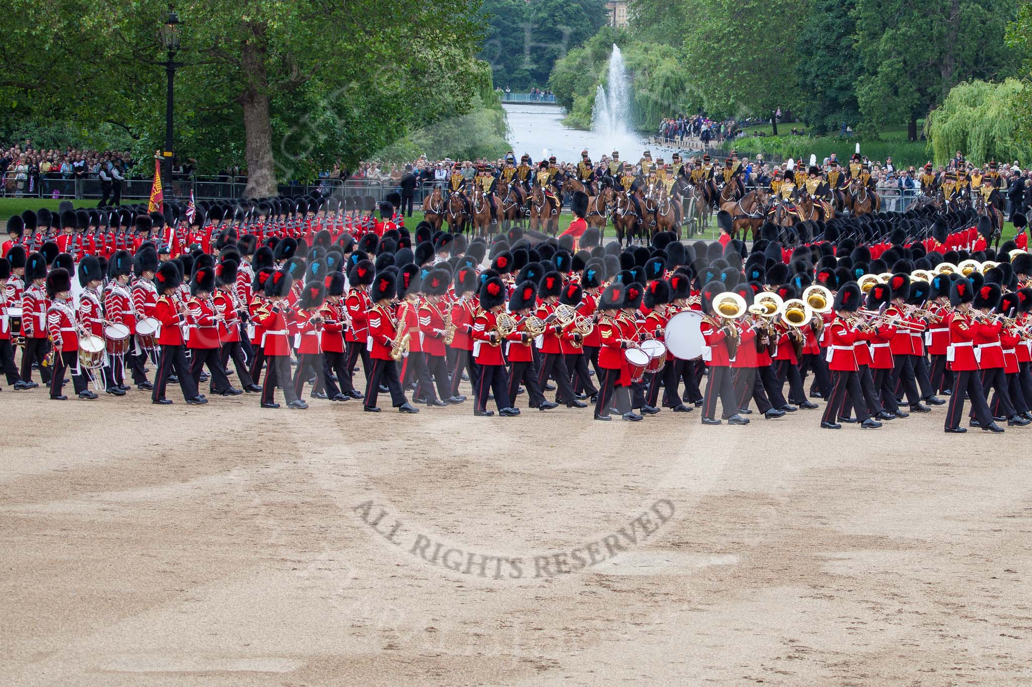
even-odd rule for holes
{"type": "Polygon", "coordinates": [[[949,405],[946,407],[947,434],[967,432],[967,427],[960,425],[961,417],[964,415],[965,393],[971,400],[977,426],[994,433],[1004,431],[993,421],[993,414],[989,410],[989,404],[986,403],[986,392],[981,386],[981,376],[978,374],[975,339],[983,322],[981,316],[971,310],[974,296],[974,288],[969,279],[957,279],[949,286],[949,304],[954,307],[954,311],[946,316],[949,325],[949,350],[946,353],[946,362],[954,372],[954,392],[949,396],[949,405]]]}

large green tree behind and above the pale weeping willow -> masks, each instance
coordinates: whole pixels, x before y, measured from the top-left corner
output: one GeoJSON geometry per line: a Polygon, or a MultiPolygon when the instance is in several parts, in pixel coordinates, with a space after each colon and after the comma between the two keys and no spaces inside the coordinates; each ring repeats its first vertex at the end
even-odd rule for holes
{"type": "Polygon", "coordinates": [[[915,140],[917,118],[954,85],[1009,75],[1014,59],[1003,36],[1013,14],[1007,0],[857,0],[857,95],[866,128],[907,122],[915,140]]]}

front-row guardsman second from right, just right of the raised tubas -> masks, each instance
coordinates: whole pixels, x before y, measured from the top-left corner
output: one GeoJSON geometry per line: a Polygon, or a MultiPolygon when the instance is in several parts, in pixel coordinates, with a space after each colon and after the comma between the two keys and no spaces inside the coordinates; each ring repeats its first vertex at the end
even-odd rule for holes
{"type": "Polygon", "coordinates": [[[824,430],[841,430],[842,425],[835,420],[842,412],[845,404],[846,393],[852,402],[857,419],[861,421],[861,426],[873,430],[881,426],[881,422],[871,419],[867,413],[867,406],[864,400],[864,391],[860,387],[860,378],[857,375],[860,369],[857,365],[856,344],[863,341],[863,334],[859,332],[852,321],[853,313],[860,309],[864,293],[856,281],[849,281],[839,287],[835,295],[835,319],[832,320],[828,329],[828,367],[832,372],[832,396],[828,400],[828,407],[820,418],[820,426],[824,430]]]}

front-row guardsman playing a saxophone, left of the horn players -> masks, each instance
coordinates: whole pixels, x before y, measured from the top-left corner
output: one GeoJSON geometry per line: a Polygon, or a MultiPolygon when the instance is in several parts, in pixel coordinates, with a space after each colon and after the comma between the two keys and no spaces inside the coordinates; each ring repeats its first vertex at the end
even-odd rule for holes
{"type": "MultiPolygon", "coordinates": [[[[357,268],[358,263],[355,265],[357,268]]],[[[354,270],[355,268],[352,268],[354,270]]],[[[409,403],[401,390],[401,380],[397,374],[397,364],[392,352],[401,359],[401,339],[406,335],[411,338],[419,336],[419,332],[409,332],[404,321],[397,319],[397,314],[391,306],[391,300],[397,296],[397,278],[391,272],[381,272],[373,279],[369,298],[373,306],[366,313],[368,317],[368,350],[373,365],[368,370],[368,383],[365,386],[365,403],[362,410],[368,413],[379,413],[377,399],[380,394],[380,384],[384,383],[390,390],[391,405],[401,413],[418,413],[419,409],[409,403]],[[395,352],[395,344],[398,346],[395,352]]]]}

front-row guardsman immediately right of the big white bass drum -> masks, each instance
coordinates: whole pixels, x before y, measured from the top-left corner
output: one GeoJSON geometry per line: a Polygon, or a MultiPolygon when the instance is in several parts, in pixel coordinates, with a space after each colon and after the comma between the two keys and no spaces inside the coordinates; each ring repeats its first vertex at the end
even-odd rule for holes
{"type": "MultiPolygon", "coordinates": [[[[721,418],[728,418],[728,424],[748,424],[749,420],[738,414],[738,402],[735,399],[735,386],[732,381],[731,362],[734,357],[730,347],[738,344],[738,329],[734,323],[727,323],[715,309],[713,300],[724,291],[720,281],[711,281],[703,286],[700,297],[705,315],[702,321],[702,335],[706,341],[703,348],[703,360],[709,368],[709,379],[706,382],[706,392],[703,396],[703,424],[720,424],[721,418]],[[716,417],[716,400],[720,398],[723,406],[721,417],[716,417]]],[[[737,351],[736,351],[737,352],[737,351]]]]}

